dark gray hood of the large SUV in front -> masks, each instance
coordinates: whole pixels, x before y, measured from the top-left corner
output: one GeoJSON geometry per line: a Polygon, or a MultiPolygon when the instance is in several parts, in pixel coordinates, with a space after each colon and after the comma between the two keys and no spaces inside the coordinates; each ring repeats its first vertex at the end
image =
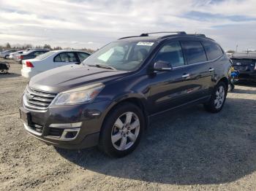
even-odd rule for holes
{"type": "Polygon", "coordinates": [[[59,93],[82,85],[118,79],[124,77],[125,74],[127,71],[72,64],[35,75],[31,78],[29,87],[59,93]]]}

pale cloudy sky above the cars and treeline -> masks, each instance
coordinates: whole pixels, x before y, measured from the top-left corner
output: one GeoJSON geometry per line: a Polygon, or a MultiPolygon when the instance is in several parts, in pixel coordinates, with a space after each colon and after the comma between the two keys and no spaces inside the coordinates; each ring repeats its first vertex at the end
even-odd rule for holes
{"type": "Polygon", "coordinates": [[[0,0],[0,44],[97,49],[155,31],[206,34],[256,49],[256,0],[0,0]]]}

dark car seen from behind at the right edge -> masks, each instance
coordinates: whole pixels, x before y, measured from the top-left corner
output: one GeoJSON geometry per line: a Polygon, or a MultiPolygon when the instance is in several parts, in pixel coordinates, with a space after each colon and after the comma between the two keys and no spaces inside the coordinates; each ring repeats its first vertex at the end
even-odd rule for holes
{"type": "Polygon", "coordinates": [[[236,52],[231,56],[234,69],[239,71],[238,80],[256,82],[256,52],[236,52]]]}

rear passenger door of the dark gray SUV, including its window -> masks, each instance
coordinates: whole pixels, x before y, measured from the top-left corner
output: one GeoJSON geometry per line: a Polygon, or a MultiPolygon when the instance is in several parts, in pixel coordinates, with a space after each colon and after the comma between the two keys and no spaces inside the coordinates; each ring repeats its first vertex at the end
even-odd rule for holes
{"type": "Polygon", "coordinates": [[[200,41],[181,41],[181,46],[187,60],[187,73],[191,86],[188,90],[190,100],[203,98],[210,93],[213,75],[206,51],[200,41]]]}

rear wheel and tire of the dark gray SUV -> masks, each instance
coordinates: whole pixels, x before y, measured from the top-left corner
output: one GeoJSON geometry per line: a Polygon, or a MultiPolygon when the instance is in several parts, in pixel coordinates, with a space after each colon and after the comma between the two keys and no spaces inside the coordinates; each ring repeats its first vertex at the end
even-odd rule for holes
{"type": "Polygon", "coordinates": [[[207,112],[220,112],[225,104],[226,96],[227,86],[225,85],[224,82],[219,82],[216,85],[216,87],[214,87],[214,91],[211,94],[210,100],[206,104],[204,104],[204,108],[206,109],[207,112]],[[223,92],[221,90],[223,90],[223,92]]]}

